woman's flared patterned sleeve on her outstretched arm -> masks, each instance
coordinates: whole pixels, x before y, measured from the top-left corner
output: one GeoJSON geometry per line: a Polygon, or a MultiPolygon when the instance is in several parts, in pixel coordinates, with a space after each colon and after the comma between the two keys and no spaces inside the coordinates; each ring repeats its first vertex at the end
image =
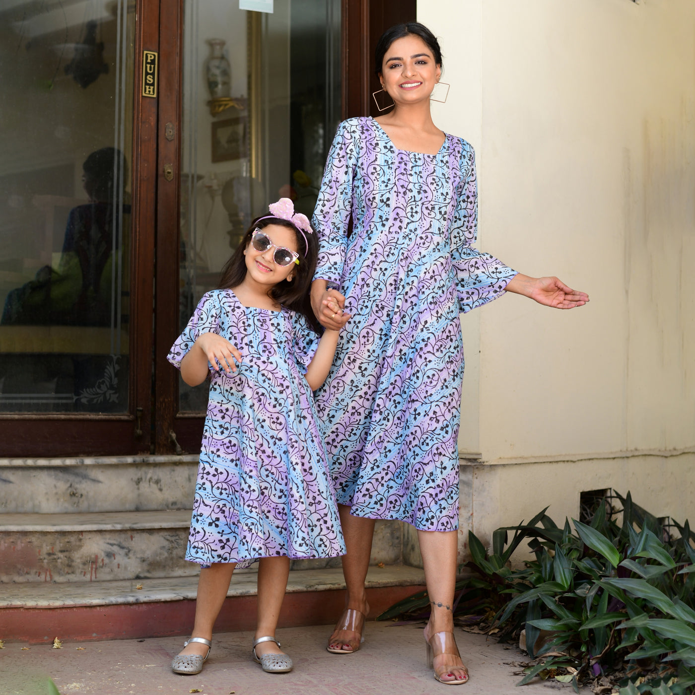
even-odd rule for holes
{"type": "Polygon", "coordinates": [[[473,147],[465,143],[461,170],[466,172],[459,189],[450,227],[451,261],[456,273],[459,311],[466,313],[500,297],[516,275],[491,254],[471,247],[477,236],[477,180],[473,147]]]}

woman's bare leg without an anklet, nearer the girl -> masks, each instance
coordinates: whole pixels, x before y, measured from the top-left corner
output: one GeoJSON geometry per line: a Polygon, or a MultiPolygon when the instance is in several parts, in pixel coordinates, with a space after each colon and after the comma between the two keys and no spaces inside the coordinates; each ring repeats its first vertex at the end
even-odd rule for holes
{"type": "MultiPolygon", "coordinates": [[[[343,555],[343,575],[345,575],[345,584],[347,585],[347,605],[345,607],[359,610],[366,615],[369,606],[364,582],[367,578],[369,558],[372,553],[375,520],[352,516],[350,507],[346,505],[338,505],[338,513],[341,516],[345,549],[347,550],[347,553],[343,555]]],[[[352,651],[350,644],[341,640],[353,638],[354,633],[349,630],[334,630],[329,640],[329,646],[334,649],[343,649],[343,651],[352,651]]]]}

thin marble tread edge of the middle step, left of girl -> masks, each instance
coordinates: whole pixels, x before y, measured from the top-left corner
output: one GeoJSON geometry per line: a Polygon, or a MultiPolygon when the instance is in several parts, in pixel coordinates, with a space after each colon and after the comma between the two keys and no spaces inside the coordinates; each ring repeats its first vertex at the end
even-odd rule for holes
{"type": "Polygon", "coordinates": [[[0,514],[0,533],[56,531],[116,531],[188,528],[190,509],[156,509],[148,512],[8,512],[0,514]]]}

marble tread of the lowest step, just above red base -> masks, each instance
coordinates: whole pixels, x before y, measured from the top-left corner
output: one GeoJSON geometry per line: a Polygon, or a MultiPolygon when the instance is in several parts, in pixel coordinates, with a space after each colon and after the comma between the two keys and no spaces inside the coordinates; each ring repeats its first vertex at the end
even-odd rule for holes
{"type": "MultiPolygon", "coordinates": [[[[3,608],[66,608],[99,605],[130,605],[195,600],[197,577],[74,582],[71,584],[0,584],[3,608]],[[138,589],[140,586],[142,589],[138,589]]],[[[366,587],[405,587],[425,584],[423,570],[407,565],[370,567],[366,587]]],[[[293,570],[288,594],[304,591],[345,589],[341,569],[293,570]]],[[[255,596],[256,574],[234,575],[227,596],[255,596]]]]}

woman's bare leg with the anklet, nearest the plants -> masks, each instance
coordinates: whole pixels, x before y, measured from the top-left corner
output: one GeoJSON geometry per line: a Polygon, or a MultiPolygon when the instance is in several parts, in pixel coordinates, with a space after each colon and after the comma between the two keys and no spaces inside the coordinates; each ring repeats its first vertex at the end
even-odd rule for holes
{"type": "MultiPolygon", "coordinates": [[[[452,607],[456,583],[458,538],[456,531],[418,530],[418,540],[432,609],[430,621],[425,627],[427,638],[436,632],[451,632],[454,629],[452,607]]],[[[441,669],[444,666],[450,667],[450,670],[440,676],[441,680],[465,680],[468,677],[468,671],[463,662],[453,654],[435,657],[434,669],[441,669]]]]}

